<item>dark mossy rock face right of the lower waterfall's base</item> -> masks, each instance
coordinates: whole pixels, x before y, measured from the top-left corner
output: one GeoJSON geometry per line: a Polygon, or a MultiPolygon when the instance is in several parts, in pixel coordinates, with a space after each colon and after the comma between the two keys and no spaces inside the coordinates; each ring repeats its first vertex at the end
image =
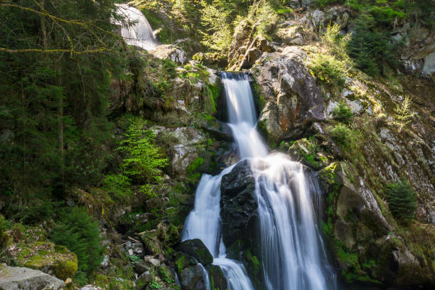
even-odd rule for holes
{"type": "Polygon", "coordinates": [[[426,260],[409,252],[375,194],[359,176],[351,180],[353,174],[346,163],[332,163],[318,173],[328,208],[323,230],[336,241],[333,247],[343,278],[366,285],[433,284],[426,260]]]}

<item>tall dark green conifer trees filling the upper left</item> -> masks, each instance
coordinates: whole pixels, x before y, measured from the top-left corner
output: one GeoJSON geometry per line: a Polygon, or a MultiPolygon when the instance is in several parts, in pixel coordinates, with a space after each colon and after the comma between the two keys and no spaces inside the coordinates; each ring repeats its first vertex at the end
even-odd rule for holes
{"type": "Polygon", "coordinates": [[[110,144],[109,86],[124,71],[114,1],[40,4],[0,6],[0,48],[9,50],[0,51],[0,123],[11,131],[0,143],[0,199],[8,200],[6,215],[25,211],[31,222],[50,216],[65,188],[101,180],[110,159],[101,146],[110,144]],[[38,51],[14,52],[23,49],[38,51]]]}

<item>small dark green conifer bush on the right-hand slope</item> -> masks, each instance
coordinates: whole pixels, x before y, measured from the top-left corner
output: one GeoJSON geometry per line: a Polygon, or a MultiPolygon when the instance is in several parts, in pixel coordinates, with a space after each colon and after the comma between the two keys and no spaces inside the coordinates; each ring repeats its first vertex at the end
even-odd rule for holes
{"type": "Polygon", "coordinates": [[[409,182],[388,183],[384,192],[394,218],[405,224],[411,222],[417,210],[417,203],[414,188],[409,182]]]}

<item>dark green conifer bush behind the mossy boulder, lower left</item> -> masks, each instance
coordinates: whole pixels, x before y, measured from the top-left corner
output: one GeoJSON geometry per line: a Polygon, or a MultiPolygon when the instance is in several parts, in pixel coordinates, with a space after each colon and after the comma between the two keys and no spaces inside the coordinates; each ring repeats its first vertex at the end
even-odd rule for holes
{"type": "Polygon", "coordinates": [[[71,208],[60,213],[59,220],[50,234],[50,240],[64,245],[78,258],[78,269],[91,273],[103,259],[98,223],[82,208],[71,208]]]}

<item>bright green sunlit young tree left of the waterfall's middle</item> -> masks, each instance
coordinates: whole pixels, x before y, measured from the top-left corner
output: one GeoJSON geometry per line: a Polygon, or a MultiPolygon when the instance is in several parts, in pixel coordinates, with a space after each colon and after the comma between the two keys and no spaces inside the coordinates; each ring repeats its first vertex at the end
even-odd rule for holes
{"type": "Polygon", "coordinates": [[[161,171],[168,163],[158,146],[154,144],[154,133],[144,129],[143,119],[134,119],[122,140],[118,150],[124,154],[121,168],[126,176],[134,181],[159,182],[161,171]]]}

